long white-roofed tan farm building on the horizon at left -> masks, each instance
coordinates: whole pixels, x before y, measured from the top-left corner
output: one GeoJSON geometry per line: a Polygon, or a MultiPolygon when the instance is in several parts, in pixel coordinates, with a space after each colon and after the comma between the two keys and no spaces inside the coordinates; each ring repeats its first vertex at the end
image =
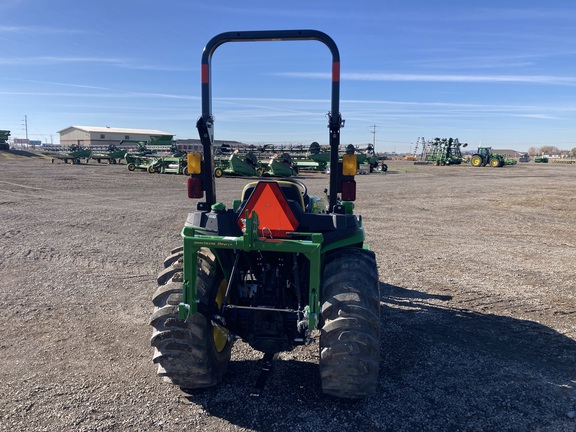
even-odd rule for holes
{"type": "MultiPolygon", "coordinates": [[[[69,126],[59,130],[60,145],[73,144],[82,147],[103,147],[111,144],[118,146],[121,141],[148,141],[151,136],[164,136],[172,139],[171,133],[153,129],[126,129],[98,126],[69,126]]],[[[122,147],[126,147],[123,145],[122,147]]]]}

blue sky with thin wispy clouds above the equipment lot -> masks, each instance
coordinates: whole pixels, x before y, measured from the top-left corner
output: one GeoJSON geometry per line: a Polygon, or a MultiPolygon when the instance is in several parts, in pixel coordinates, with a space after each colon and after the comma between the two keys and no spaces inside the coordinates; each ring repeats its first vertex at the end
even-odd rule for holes
{"type": "MultiPolygon", "coordinates": [[[[342,143],[410,152],[576,147],[573,0],[1,0],[0,129],[70,125],[197,138],[200,59],[224,31],[316,29],[341,56],[342,143]]],[[[316,41],[234,43],[212,61],[215,137],[328,142],[331,57],[316,41]]]]}

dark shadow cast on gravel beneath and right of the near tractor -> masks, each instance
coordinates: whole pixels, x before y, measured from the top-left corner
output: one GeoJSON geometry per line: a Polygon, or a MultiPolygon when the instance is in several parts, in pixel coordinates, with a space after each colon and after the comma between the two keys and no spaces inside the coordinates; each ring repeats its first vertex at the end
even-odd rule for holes
{"type": "Polygon", "coordinates": [[[378,394],[338,400],[315,362],[276,361],[260,398],[255,361],[188,401],[257,431],[576,429],[576,343],[531,321],[452,309],[449,296],[381,284],[378,394]]]}

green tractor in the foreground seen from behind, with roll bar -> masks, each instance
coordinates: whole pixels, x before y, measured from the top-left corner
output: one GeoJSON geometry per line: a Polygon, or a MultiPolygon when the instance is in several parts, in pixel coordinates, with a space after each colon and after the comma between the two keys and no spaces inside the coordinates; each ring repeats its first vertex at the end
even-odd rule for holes
{"type": "Polygon", "coordinates": [[[188,196],[198,199],[182,229],[183,244],[164,261],[151,345],[158,375],[185,391],[225,379],[235,341],[263,354],[251,396],[259,396],[280,352],[319,339],[325,394],[357,399],[376,391],[380,292],[374,252],[354,214],[356,155],[339,160],[340,57],[316,30],[222,33],[202,55],[203,153],[188,154],[188,196]],[[258,179],[231,208],[215,192],[211,58],[227,42],[315,40],[332,54],[331,148],[326,200],[294,178],[258,179]]]}

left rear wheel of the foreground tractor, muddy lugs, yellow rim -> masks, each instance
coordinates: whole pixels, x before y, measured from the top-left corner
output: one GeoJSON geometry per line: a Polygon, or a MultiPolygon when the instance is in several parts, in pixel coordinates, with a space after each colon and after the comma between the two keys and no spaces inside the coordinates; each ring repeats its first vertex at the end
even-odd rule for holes
{"type": "MultiPolygon", "coordinates": [[[[176,250],[182,256],[183,252],[176,250]]],[[[209,318],[196,313],[187,320],[178,317],[182,301],[182,260],[167,258],[172,264],[158,276],[158,289],[152,297],[154,327],[151,345],[158,375],[182,389],[198,389],[218,384],[230,361],[233,342],[209,318]]],[[[208,309],[221,304],[226,279],[209,249],[198,252],[198,300],[208,309]]]]}

